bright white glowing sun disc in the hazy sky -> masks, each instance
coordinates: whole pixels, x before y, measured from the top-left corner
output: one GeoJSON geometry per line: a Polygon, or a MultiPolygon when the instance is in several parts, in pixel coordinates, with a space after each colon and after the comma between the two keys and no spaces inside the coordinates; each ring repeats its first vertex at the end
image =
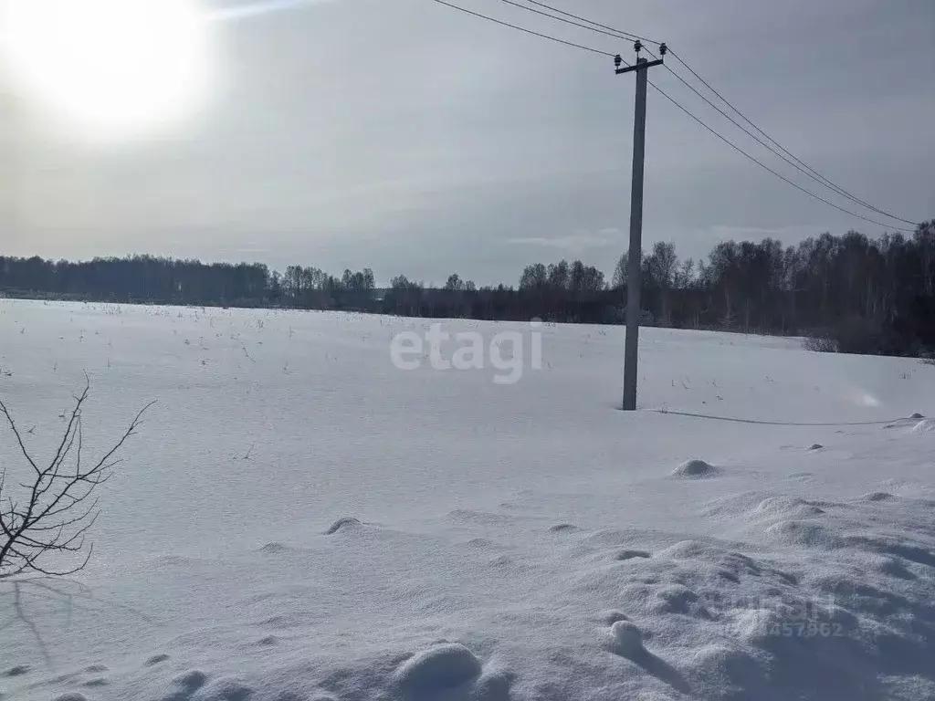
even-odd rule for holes
{"type": "Polygon", "coordinates": [[[184,116],[207,88],[207,49],[193,0],[0,0],[14,85],[102,136],[184,116]]]}

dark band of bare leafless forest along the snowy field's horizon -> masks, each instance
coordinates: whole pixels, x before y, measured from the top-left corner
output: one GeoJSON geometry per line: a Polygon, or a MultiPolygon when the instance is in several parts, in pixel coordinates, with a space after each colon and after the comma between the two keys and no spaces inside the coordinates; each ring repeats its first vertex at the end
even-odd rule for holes
{"type": "MultiPolygon", "coordinates": [[[[913,236],[823,234],[798,246],[727,241],[707,260],[657,243],[642,259],[642,323],[813,337],[815,350],[935,353],[935,220],[913,236]]],[[[515,286],[478,287],[454,273],[442,288],[373,271],[204,264],[150,255],[72,263],[0,256],[0,295],[99,302],[346,309],[431,318],[626,321],[626,254],[606,279],[581,261],[527,265],[515,286]]]]}

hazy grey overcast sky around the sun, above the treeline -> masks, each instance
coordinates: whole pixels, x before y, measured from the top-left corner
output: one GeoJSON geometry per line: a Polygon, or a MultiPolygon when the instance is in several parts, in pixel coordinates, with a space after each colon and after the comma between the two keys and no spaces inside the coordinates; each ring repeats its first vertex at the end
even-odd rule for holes
{"type": "MultiPolygon", "coordinates": [[[[626,41],[498,0],[453,2],[633,56],[626,41]]],[[[935,218],[931,0],[550,4],[668,41],[828,178],[907,219],[935,218]]],[[[626,247],[634,78],[615,76],[610,58],[431,0],[311,2],[213,21],[211,32],[206,107],[145,139],[84,141],[7,91],[0,253],[151,252],[338,274],[370,266],[378,283],[456,271],[515,284],[525,264],[562,257],[610,275],[626,247]]],[[[739,134],[664,69],[651,78],[739,134]]],[[[650,91],[647,248],[672,240],[698,257],[730,237],[851,228],[882,231],[775,179],[650,91]]]]}

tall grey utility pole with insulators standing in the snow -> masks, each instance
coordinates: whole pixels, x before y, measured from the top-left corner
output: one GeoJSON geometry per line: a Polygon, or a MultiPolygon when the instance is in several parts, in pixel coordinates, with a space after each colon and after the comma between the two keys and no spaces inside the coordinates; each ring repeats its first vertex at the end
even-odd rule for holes
{"type": "MultiPolygon", "coordinates": [[[[637,63],[621,68],[623,59],[617,56],[617,75],[636,71],[637,98],[633,118],[633,180],[630,189],[630,252],[629,268],[626,274],[626,345],[624,348],[624,409],[633,411],[637,408],[637,360],[640,350],[640,285],[642,265],[642,192],[643,162],[646,152],[646,84],[649,81],[649,69],[661,65],[662,59],[649,62],[640,58],[642,44],[638,41],[637,63]]],[[[662,55],[666,54],[666,45],[659,47],[662,55]]]]}

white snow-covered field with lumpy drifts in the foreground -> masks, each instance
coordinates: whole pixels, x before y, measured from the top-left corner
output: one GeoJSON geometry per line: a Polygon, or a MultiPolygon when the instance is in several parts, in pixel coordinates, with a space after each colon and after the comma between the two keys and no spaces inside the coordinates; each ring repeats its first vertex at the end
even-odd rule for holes
{"type": "Polygon", "coordinates": [[[621,328],[498,385],[428,324],[0,300],[31,448],[158,400],[88,568],[0,581],[3,701],[935,697],[935,368],[644,329],[624,413],[621,328]]]}

